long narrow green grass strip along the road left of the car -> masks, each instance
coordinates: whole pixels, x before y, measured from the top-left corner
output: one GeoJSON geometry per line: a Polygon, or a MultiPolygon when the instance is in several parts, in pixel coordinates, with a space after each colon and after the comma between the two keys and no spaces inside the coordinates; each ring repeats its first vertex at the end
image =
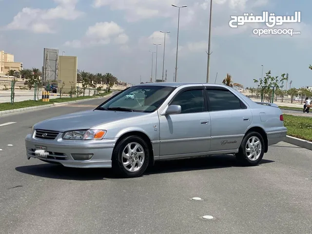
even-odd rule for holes
{"type": "Polygon", "coordinates": [[[89,99],[89,98],[95,98],[95,97],[85,96],[85,97],[78,97],[78,98],[77,97],[76,98],[53,98],[53,99],[50,99],[49,102],[43,102],[41,100],[38,100],[38,101],[27,100],[27,101],[14,102],[13,105],[11,105],[10,102],[4,102],[4,103],[0,103],[0,111],[14,110],[14,109],[20,109],[20,108],[31,107],[31,106],[42,106],[42,105],[48,105],[48,104],[53,104],[53,103],[76,101],[76,100],[83,100],[83,99],[89,99]]]}

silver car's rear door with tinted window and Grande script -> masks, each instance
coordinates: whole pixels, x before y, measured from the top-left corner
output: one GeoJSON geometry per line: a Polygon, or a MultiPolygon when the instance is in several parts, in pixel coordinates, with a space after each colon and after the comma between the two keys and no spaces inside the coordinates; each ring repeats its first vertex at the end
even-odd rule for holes
{"type": "Polygon", "coordinates": [[[206,87],[211,116],[211,151],[239,148],[252,124],[250,108],[234,92],[224,87],[206,87]]]}

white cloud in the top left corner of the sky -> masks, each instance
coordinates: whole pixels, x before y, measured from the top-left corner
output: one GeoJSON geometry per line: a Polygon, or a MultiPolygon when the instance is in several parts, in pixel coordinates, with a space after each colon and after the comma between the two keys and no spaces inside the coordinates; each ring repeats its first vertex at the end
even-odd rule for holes
{"type": "Polygon", "coordinates": [[[50,9],[23,8],[9,23],[7,30],[31,30],[34,33],[55,33],[55,20],[76,20],[83,13],[76,10],[78,0],[54,0],[50,9]]]}

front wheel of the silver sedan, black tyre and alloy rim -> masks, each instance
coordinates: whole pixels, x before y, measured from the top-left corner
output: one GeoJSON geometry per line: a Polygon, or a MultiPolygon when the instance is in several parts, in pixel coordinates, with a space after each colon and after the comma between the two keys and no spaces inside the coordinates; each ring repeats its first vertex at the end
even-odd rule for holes
{"type": "Polygon", "coordinates": [[[138,136],[129,136],[117,143],[112,155],[112,167],[117,175],[138,177],[145,172],[149,159],[150,150],[145,140],[138,136]],[[130,164],[126,166],[128,163],[130,164]]]}

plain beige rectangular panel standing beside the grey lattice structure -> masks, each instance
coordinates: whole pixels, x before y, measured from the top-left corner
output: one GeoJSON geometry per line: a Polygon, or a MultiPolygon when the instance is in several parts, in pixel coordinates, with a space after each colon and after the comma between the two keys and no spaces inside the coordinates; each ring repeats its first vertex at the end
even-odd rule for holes
{"type": "Polygon", "coordinates": [[[77,57],[59,56],[59,88],[63,87],[63,94],[70,92],[71,86],[77,83],[77,57]]]}

